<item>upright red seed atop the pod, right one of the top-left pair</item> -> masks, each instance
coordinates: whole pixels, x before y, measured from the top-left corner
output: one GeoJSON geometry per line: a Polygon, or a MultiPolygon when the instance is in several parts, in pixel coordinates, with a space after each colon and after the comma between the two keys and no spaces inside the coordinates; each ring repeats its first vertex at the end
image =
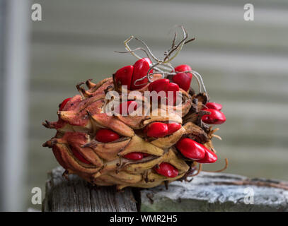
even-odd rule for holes
{"type": "MultiPolygon", "coordinates": [[[[134,85],[134,81],[146,76],[151,64],[152,62],[149,58],[142,58],[135,62],[132,81],[130,85],[131,90],[139,90],[148,83],[148,78],[144,78],[142,81],[138,81],[136,85],[134,85]]],[[[153,70],[150,71],[150,73],[152,72],[153,70]]]]}

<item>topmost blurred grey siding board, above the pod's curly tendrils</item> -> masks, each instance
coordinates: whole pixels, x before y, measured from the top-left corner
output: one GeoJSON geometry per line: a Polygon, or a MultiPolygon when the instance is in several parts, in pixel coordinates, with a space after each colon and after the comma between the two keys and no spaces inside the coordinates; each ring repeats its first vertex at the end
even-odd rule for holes
{"type": "Polygon", "coordinates": [[[35,23],[33,32],[56,37],[67,34],[67,41],[77,37],[111,40],[133,34],[162,42],[168,40],[166,35],[173,25],[183,24],[197,37],[197,44],[287,49],[287,8],[255,4],[255,21],[246,22],[243,5],[225,6],[221,1],[43,1],[44,19],[35,23]]]}

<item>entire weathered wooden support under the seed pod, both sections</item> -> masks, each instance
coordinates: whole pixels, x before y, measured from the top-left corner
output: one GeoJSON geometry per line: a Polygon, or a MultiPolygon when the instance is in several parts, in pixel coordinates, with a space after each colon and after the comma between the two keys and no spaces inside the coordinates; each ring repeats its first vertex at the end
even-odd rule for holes
{"type": "Polygon", "coordinates": [[[43,211],[288,211],[288,182],[201,172],[192,182],[172,182],[133,192],[93,187],[83,179],[49,173],[43,211]]]}

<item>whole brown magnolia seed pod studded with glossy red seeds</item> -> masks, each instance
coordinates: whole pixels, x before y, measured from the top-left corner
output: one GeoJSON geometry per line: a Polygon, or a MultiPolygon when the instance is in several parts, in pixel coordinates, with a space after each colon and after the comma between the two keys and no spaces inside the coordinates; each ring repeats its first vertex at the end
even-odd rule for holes
{"type": "MultiPolygon", "coordinates": [[[[185,40],[193,40],[182,30],[183,40],[173,40],[171,46],[181,47],[185,40]]],[[[125,41],[127,50],[130,50],[129,40],[132,37],[125,41]]],[[[176,71],[171,68],[170,61],[179,48],[168,49],[159,60],[150,54],[149,47],[145,49],[151,60],[137,59],[122,69],[113,69],[112,77],[97,83],[88,80],[88,89],[83,87],[85,82],[79,83],[76,88],[80,94],[71,100],[63,99],[57,107],[57,121],[43,122],[43,126],[56,130],[55,136],[43,146],[52,148],[57,161],[69,174],[78,174],[98,186],[147,189],[163,182],[186,180],[189,175],[194,177],[193,162],[217,160],[217,155],[212,153],[212,138],[217,137],[214,134],[217,129],[201,120],[203,114],[211,113],[206,109],[217,109],[212,109],[216,105],[204,106],[209,98],[201,76],[188,65],[177,66],[176,71]],[[151,68],[156,73],[148,77],[153,72],[149,71],[151,68]],[[205,93],[190,88],[192,76],[197,76],[205,93]],[[127,85],[127,92],[121,85],[127,85]],[[152,97],[155,100],[152,106],[147,102],[151,100],[145,93],[148,90],[159,97],[152,97]],[[114,98],[107,100],[108,93],[114,98]],[[159,101],[161,97],[163,100],[159,101]],[[117,100],[120,102],[115,104],[117,100]],[[181,100],[182,105],[175,105],[175,100],[181,100]]],[[[134,50],[127,52],[134,54],[134,50]]],[[[135,56],[139,58],[136,53],[135,56]]]]}

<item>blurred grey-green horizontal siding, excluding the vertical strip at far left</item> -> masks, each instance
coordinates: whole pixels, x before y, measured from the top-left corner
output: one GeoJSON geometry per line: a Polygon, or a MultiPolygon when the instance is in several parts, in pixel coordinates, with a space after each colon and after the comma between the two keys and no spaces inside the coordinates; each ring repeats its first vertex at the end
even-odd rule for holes
{"type": "Polygon", "coordinates": [[[77,93],[76,83],[100,81],[132,64],[129,54],[114,52],[124,49],[129,35],[142,37],[161,56],[175,24],[185,25],[196,40],[174,65],[190,64],[200,72],[227,116],[219,131],[223,141],[215,143],[220,161],[207,168],[221,167],[229,157],[227,172],[288,179],[288,2],[253,1],[251,22],[243,20],[244,1],[207,2],[41,2],[43,20],[33,23],[31,40],[30,172],[38,176],[30,184],[42,177],[44,182],[45,171],[57,165],[45,148],[39,152],[54,133],[41,122],[57,119],[58,103],[77,93]]]}

